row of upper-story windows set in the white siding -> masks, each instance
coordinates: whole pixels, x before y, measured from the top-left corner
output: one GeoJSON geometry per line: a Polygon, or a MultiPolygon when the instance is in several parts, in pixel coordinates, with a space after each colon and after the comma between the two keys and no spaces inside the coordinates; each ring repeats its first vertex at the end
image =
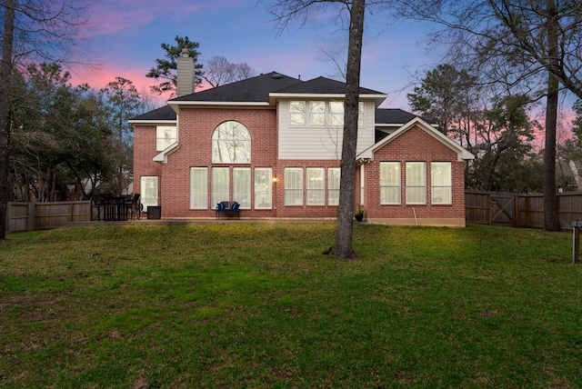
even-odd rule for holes
{"type": "MultiPolygon", "coordinates": [[[[364,125],[364,102],[357,105],[357,125],[364,125]]],[[[343,101],[292,101],[289,106],[290,125],[344,125],[343,101]]]]}

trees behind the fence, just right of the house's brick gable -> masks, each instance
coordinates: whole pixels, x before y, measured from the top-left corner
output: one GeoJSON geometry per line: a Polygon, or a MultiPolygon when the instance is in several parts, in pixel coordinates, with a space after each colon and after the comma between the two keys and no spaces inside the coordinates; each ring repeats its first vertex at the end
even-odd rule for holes
{"type": "Polygon", "coordinates": [[[468,189],[541,190],[541,166],[531,145],[539,124],[528,117],[532,102],[527,95],[490,96],[477,80],[453,65],[438,65],[408,99],[416,112],[430,117],[475,155],[466,167],[468,189]]]}

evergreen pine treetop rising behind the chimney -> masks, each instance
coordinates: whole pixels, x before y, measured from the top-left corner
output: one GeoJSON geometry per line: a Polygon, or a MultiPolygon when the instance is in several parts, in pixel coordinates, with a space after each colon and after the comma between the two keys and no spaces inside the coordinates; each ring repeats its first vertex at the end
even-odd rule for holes
{"type": "Polygon", "coordinates": [[[156,66],[151,67],[146,77],[153,78],[158,83],[150,86],[152,92],[159,95],[166,92],[175,92],[177,83],[177,58],[182,55],[182,50],[187,48],[189,55],[194,58],[195,62],[195,85],[200,85],[202,82],[203,65],[198,64],[197,58],[200,53],[197,48],[200,46],[197,42],[191,42],[187,36],[178,36],[174,38],[176,45],[162,44],[162,49],[165,51],[166,58],[157,58],[156,66]]]}

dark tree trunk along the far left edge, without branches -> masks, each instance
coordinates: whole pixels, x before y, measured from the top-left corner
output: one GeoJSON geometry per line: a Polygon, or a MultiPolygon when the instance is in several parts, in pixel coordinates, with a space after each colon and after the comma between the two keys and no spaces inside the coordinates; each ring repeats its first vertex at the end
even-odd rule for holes
{"type": "Polygon", "coordinates": [[[12,82],[12,45],[15,30],[15,0],[5,1],[4,41],[0,64],[0,240],[6,238],[6,211],[10,200],[10,95],[12,82]]]}

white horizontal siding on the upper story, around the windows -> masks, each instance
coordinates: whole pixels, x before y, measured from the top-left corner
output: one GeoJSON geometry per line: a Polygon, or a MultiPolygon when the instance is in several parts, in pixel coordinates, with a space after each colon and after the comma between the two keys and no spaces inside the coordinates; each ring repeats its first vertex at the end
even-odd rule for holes
{"type": "MultiPolygon", "coordinates": [[[[343,128],[289,125],[289,101],[279,101],[279,159],[341,158],[343,128]]],[[[364,126],[357,131],[357,153],[374,145],[374,103],[364,104],[364,126]]]]}

